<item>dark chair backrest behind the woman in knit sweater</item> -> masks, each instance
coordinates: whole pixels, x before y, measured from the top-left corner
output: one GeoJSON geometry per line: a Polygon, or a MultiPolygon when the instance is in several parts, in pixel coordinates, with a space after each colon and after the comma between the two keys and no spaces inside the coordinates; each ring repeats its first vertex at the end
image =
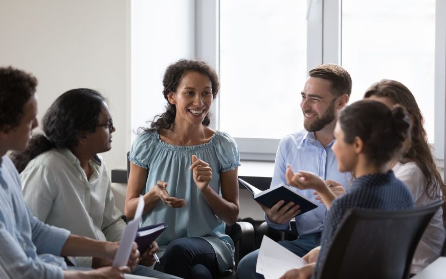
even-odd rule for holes
{"type": "Polygon", "coordinates": [[[333,237],[322,278],[409,278],[421,235],[443,200],[410,210],[350,210],[333,237]]]}

